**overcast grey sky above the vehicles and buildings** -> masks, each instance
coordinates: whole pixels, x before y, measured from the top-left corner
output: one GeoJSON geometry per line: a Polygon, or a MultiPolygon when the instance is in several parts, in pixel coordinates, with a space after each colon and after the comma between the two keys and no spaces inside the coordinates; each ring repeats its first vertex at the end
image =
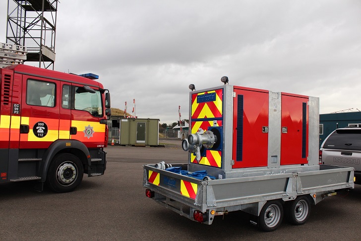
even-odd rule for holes
{"type": "MultiPolygon", "coordinates": [[[[0,42],[7,0],[0,1],[0,42]]],[[[360,0],[61,0],[55,70],[94,73],[112,107],[188,119],[189,83],[320,97],[361,110],[360,0]]]]}

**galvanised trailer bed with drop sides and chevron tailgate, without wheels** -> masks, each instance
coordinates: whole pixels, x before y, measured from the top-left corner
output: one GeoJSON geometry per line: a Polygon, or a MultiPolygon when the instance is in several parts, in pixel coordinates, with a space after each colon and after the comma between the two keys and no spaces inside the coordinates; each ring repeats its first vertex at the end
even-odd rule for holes
{"type": "Polygon", "coordinates": [[[192,220],[194,210],[214,210],[215,215],[242,210],[258,216],[268,200],[287,202],[310,194],[316,204],[330,193],[354,187],[354,169],[334,165],[320,165],[315,171],[215,180],[198,180],[151,164],[143,167],[143,186],[154,192],[153,199],[192,220]]]}

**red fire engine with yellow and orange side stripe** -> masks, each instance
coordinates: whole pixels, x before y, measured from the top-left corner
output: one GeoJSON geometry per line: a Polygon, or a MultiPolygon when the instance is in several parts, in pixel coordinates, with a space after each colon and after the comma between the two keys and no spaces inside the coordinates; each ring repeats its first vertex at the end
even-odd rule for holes
{"type": "Polygon", "coordinates": [[[26,65],[0,69],[0,182],[74,190],[106,169],[110,93],[77,75],[26,65]]]}

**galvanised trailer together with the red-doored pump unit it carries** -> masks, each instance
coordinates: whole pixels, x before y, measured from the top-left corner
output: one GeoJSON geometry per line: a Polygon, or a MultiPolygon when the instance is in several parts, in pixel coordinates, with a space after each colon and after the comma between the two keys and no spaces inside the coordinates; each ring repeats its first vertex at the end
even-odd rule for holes
{"type": "Polygon", "coordinates": [[[144,165],[146,196],[208,225],[241,210],[273,231],[284,214],[304,224],[311,204],[354,187],[353,168],[318,163],[318,98],[222,81],[189,86],[188,163],[144,165]]]}

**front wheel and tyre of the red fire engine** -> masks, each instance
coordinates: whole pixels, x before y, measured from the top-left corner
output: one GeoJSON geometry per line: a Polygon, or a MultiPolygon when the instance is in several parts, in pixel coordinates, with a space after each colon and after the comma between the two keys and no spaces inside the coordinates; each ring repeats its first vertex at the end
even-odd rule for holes
{"type": "Polygon", "coordinates": [[[46,181],[55,192],[71,192],[80,184],[83,174],[80,159],[72,154],[62,153],[50,163],[46,181]]]}

